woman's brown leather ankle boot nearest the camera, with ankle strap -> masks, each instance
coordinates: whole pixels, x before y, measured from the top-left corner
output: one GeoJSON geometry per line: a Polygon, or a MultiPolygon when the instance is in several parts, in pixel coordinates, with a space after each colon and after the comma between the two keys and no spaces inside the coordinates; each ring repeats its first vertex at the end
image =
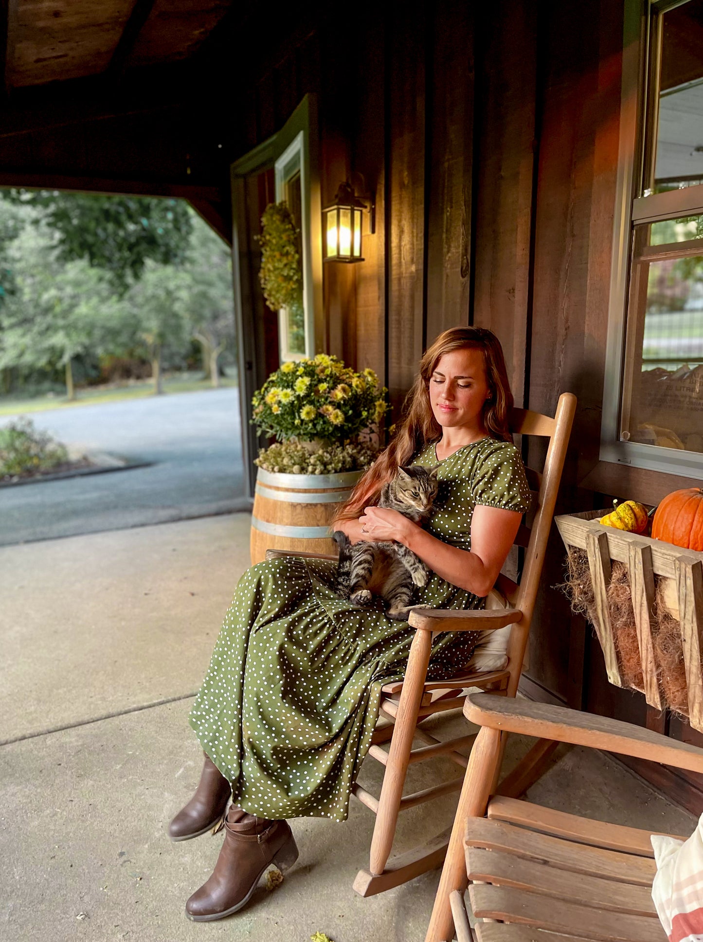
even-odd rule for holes
{"type": "Polygon", "coordinates": [[[186,903],[186,916],[210,922],[245,906],[264,870],[274,863],[292,867],[298,848],[287,821],[270,821],[231,807],[224,822],[224,842],[212,875],[186,903]]]}

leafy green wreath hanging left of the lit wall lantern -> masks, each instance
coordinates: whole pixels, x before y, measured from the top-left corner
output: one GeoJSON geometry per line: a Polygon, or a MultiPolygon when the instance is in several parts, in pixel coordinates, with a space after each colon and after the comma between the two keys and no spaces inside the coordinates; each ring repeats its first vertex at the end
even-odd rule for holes
{"type": "Polygon", "coordinates": [[[192,336],[203,351],[204,374],[217,387],[221,353],[235,338],[232,256],[220,236],[202,219],[193,220],[183,272],[189,283],[187,310],[192,336]]]}

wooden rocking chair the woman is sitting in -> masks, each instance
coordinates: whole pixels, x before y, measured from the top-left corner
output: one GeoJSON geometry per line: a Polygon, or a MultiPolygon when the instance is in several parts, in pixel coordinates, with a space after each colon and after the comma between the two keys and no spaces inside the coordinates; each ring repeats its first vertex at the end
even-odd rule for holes
{"type": "MultiPolygon", "coordinates": [[[[368,750],[368,755],[385,767],[381,794],[376,798],[358,783],[352,788],[356,798],[376,815],[369,868],[359,871],[353,885],[361,896],[382,893],[442,864],[450,839],[450,828],[410,852],[390,856],[398,815],[406,808],[459,791],[464,778],[462,776],[403,796],[405,775],[411,763],[436,756],[449,758],[466,769],[468,759],[458,750],[470,745],[475,737],[464,736],[442,742],[429,735],[418,723],[437,713],[461,707],[466,689],[470,687],[489,688],[499,695],[515,697],[575,410],[576,397],[564,393],[559,398],[554,418],[524,409],[515,409],[513,413],[511,431],[520,435],[546,437],[549,445],[543,472],[540,474],[528,469],[528,481],[536,493],[532,494],[532,526],[528,528],[522,525],[515,538],[515,544],[525,549],[520,585],[503,575],[496,582],[496,589],[510,607],[499,606],[477,611],[417,608],[410,612],[409,624],[417,631],[410,649],[407,671],[402,681],[386,684],[382,688],[379,725],[368,750]],[[496,631],[506,625],[513,627],[507,649],[508,663],[503,670],[482,674],[465,672],[447,680],[427,680],[435,634],[442,631],[496,631]],[[413,739],[416,738],[423,745],[413,749],[413,739]],[[388,740],[390,748],[386,753],[381,745],[388,740]]],[[[267,559],[280,555],[296,554],[270,550],[267,559]]],[[[525,767],[539,765],[544,758],[545,750],[537,748],[524,760],[525,767]]]]}

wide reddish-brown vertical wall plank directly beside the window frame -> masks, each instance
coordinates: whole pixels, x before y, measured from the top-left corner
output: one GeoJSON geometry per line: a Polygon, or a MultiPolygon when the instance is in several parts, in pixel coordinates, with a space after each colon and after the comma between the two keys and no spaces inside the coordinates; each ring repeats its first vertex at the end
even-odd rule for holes
{"type": "MultiPolygon", "coordinates": [[[[619,68],[613,69],[610,85],[603,81],[602,69],[603,60],[613,63],[621,43],[621,17],[617,5],[599,0],[577,7],[553,5],[540,48],[545,77],[538,103],[529,404],[549,412],[565,389],[579,398],[564,469],[565,509],[584,499],[576,491],[579,466],[597,461],[600,436],[617,160],[616,140],[604,129],[612,126],[619,107],[619,68]],[[606,168],[610,171],[604,172],[606,168]]],[[[550,588],[563,581],[563,563],[554,537],[536,605],[540,630],[531,641],[531,675],[580,706],[585,636],[591,629],[573,618],[561,593],[550,588]]],[[[605,687],[602,656],[590,666],[605,687]]],[[[591,682],[585,678],[586,685],[591,682]]]]}

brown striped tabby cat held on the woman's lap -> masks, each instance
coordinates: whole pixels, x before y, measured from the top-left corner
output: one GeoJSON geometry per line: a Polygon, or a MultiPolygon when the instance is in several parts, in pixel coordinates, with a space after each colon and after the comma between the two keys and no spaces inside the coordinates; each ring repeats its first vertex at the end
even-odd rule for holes
{"type": "MultiPolygon", "coordinates": [[[[430,516],[437,495],[437,468],[428,471],[418,464],[398,469],[384,484],[378,506],[399,511],[414,523],[430,516]]],[[[430,577],[427,566],[401,543],[351,544],[341,530],[333,534],[339,546],[336,591],[356,606],[368,605],[374,594],[387,603],[386,615],[407,621],[407,608],[414,586],[424,586],[430,577]]]]}

